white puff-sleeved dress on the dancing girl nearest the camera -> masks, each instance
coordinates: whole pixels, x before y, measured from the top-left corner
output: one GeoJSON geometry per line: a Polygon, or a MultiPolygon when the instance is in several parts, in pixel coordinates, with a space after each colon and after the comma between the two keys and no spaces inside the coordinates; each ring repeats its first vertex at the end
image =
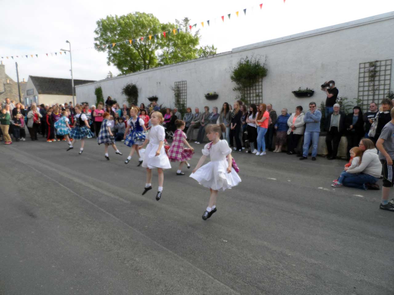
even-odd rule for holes
{"type": "Polygon", "coordinates": [[[204,146],[202,152],[204,156],[209,155],[211,161],[191,173],[190,177],[197,180],[199,184],[212,188],[212,190],[226,190],[240,183],[241,179],[234,168],[231,169],[230,173],[227,173],[229,164],[226,156],[231,153],[227,141],[220,140],[216,144],[212,144],[209,149],[208,146],[209,143],[204,146]]]}

